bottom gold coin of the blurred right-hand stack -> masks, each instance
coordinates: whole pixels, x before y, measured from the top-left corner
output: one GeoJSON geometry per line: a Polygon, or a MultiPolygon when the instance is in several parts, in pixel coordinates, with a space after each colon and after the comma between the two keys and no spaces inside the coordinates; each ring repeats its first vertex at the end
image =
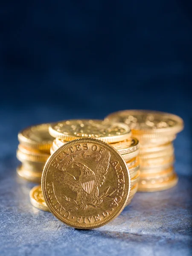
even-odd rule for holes
{"type": "Polygon", "coordinates": [[[178,182],[178,177],[176,173],[173,173],[166,181],[156,182],[154,183],[142,183],[143,180],[140,180],[138,191],[140,192],[156,192],[156,191],[163,191],[166,189],[170,189],[175,186],[178,182]]]}

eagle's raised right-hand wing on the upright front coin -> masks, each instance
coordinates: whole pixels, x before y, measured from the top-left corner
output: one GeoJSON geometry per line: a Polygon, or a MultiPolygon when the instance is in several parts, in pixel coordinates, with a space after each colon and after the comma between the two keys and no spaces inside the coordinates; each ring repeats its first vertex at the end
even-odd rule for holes
{"type": "Polygon", "coordinates": [[[109,160],[110,160],[110,153],[107,152],[107,154],[105,155],[105,157],[102,159],[102,161],[99,163],[97,167],[95,178],[96,178],[96,185],[98,187],[102,186],[102,184],[105,181],[105,175],[108,172],[108,168],[109,168],[109,160]]]}

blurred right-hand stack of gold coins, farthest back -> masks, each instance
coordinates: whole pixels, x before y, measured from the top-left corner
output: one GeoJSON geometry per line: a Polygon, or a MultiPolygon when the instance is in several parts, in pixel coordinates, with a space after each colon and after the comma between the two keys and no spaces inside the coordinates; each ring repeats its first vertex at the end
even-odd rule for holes
{"type": "Polygon", "coordinates": [[[125,110],[111,113],[107,121],[122,122],[140,141],[140,182],[138,191],[154,192],[177,184],[172,141],[183,130],[183,120],[158,111],[125,110]]]}

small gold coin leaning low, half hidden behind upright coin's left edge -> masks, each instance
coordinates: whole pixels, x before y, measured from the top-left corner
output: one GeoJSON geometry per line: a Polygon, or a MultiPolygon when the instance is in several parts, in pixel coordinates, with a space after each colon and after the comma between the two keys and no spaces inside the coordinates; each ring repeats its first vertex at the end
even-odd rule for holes
{"type": "Polygon", "coordinates": [[[43,211],[49,212],[49,209],[44,201],[42,192],[41,192],[41,185],[35,186],[30,191],[30,201],[33,206],[43,211]]]}

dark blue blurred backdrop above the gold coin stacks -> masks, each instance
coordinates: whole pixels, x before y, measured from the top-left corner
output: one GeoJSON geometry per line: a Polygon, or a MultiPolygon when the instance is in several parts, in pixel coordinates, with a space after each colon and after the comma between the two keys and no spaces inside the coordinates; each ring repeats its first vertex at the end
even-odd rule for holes
{"type": "Polygon", "coordinates": [[[15,154],[26,125],[141,108],[183,117],[176,153],[189,160],[191,10],[187,0],[4,1],[0,116],[7,150],[15,154]]]}

